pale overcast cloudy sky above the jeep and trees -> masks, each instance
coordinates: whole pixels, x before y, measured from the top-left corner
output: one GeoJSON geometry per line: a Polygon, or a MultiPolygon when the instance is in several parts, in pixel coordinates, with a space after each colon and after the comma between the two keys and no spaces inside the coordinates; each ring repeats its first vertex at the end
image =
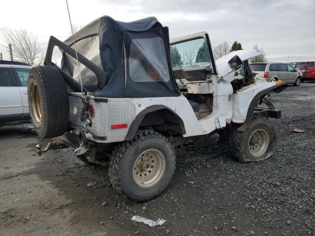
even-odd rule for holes
{"type": "MultiPolygon", "coordinates": [[[[269,61],[315,60],[315,0],[68,0],[72,24],[109,15],[133,21],[155,16],[170,38],[207,31],[213,46],[234,40],[263,48],[269,61]]],[[[1,0],[0,36],[24,28],[45,51],[50,35],[64,40],[70,26],[65,0],[1,0]]],[[[7,48],[0,46],[4,59],[7,48]]],[[[59,55],[54,54],[58,59],[59,55]]]]}

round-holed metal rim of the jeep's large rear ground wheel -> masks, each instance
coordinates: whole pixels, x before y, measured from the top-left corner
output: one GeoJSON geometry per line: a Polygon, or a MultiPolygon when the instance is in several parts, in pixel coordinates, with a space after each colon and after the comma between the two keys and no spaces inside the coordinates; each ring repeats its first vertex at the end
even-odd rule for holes
{"type": "Polygon", "coordinates": [[[158,149],[143,151],[132,168],[133,180],[140,187],[155,185],[165,172],[165,157],[158,149]]]}

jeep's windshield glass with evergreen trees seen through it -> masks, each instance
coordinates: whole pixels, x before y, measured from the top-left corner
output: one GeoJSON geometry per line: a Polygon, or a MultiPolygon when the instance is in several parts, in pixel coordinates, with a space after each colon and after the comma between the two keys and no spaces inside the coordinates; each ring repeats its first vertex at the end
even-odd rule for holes
{"type": "Polygon", "coordinates": [[[211,64],[208,44],[204,38],[173,44],[170,47],[170,53],[173,69],[211,64]]]}

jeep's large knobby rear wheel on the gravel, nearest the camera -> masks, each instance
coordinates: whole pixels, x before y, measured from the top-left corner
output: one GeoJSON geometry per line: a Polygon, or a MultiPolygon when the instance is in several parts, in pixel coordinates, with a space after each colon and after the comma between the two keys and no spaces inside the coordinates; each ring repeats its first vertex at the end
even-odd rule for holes
{"type": "Polygon", "coordinates": [[[115,147],[108,171],[116,191],[135,201],[149,200],[166,188],[174,174],[174,148],[157,132],[139,131],[115,147]]]}

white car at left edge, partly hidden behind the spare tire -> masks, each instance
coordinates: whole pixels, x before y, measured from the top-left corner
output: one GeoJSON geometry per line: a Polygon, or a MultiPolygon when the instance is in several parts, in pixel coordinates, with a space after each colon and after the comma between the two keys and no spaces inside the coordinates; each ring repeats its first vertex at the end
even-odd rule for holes
{"type": "Polygon", "coordinates": [[[32,66],[0,60],[0,126],[31,123],[27,85],[32,66]]]}

